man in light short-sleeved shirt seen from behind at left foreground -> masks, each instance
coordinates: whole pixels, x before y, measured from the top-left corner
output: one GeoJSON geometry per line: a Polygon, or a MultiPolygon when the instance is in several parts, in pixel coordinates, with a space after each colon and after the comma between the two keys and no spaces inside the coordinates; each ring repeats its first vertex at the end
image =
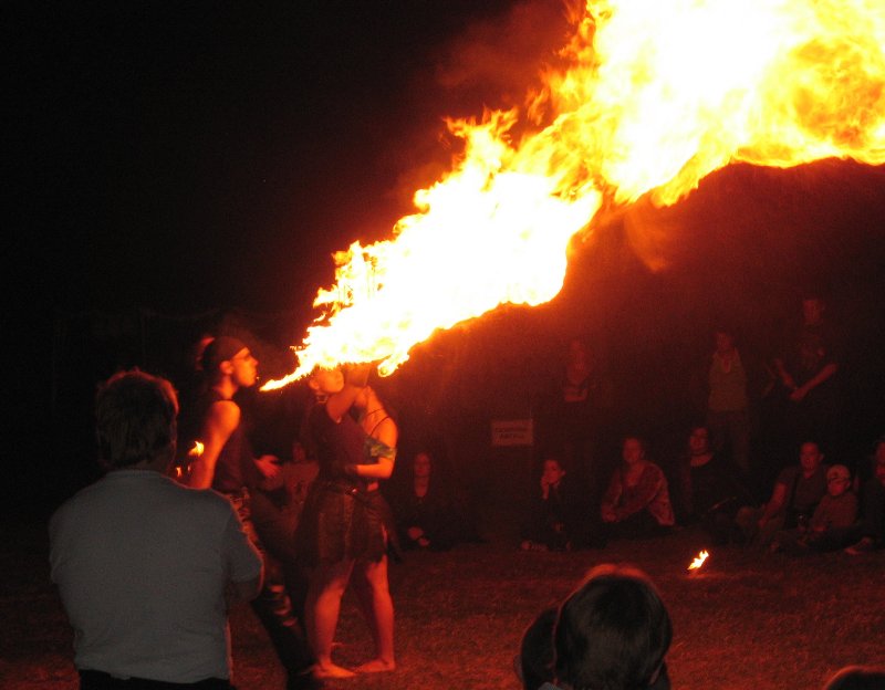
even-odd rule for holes
{"type": "Polygon", "coordinates": [[[178,411],[167,380],[117,374],[95,411],[110,471],[50,521],[80,687],[231,688],[225,594],[254,597],[261,557],[227,500],[166,477],[178,411]]]}

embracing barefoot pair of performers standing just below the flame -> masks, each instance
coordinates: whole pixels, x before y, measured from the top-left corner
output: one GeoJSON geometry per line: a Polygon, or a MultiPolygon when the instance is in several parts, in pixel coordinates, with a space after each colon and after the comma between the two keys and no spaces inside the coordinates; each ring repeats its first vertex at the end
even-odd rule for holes
{"type": "Polygon", "coordinates": [[[388,509],[377,491],[393,472],[396,425],[367,388],[368,367],[317,369],[309,385],[316,404],[308,416],[309,442],[320,466],[299,524],[300,552],[313,567],[305,618],[319,678],[351,678],[332,661],[341,599],[354,575],[355,593],[377,656],[356,670],[391,671],[394,609],[387,586],[388,509]],[[361,422],[351,415],[364,410],[361,422]]]}

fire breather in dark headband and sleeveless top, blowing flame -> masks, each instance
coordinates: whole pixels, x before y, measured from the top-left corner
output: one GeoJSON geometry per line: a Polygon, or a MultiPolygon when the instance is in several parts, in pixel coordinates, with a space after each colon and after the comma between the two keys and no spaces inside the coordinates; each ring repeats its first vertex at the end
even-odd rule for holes
{"type": "MultiPolygon", "coordinates": [[[[206,346],[200,364],[207,383],[199,402],[204,449],[190,467],[188,483],[225,494],[237,509],[252,542],[264,553],[251,521],[250,491],[263,479],[273,479],[280,467],[273,456],[254,457],[242,410],[233,400],[238,390],[258,380],[258,359],[246,343],[221,335],[206,346]]],[[[251,604],[287,671],[287,688],[321,687],[322,682],[312,673],[313,655],[293,615],[291,600],[285,589],[270,579],[266,579],[251,604]]]]}

